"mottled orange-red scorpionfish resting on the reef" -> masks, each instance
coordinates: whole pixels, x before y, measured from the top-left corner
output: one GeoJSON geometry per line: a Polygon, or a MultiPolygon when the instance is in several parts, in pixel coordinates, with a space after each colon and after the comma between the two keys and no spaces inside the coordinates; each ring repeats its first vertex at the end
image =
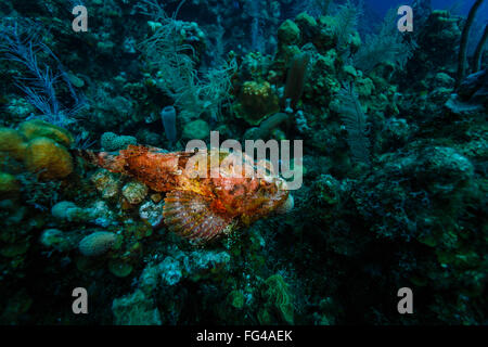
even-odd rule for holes
{"type": "MultiPolygon", "coordinates": [[[[267,175],[262,178],[235,177],[233,164],[237,162],[229,160],[234,155],[230,152],[165,153],[156,147],[129,145],[118,154],[90,151],[79,154],[97,166],[128,175],[156,192],[166,193],[165,224],[193,244],[207,243],[272,213],[293,208],[286,182],[268,165],[265,164],[267,175]],[[213,155],[219,165],[210,165],[213,155]]],[[[241,172],[264,165],[245,154],[241,158],[242,166],[237,166],[241,172]]]]}

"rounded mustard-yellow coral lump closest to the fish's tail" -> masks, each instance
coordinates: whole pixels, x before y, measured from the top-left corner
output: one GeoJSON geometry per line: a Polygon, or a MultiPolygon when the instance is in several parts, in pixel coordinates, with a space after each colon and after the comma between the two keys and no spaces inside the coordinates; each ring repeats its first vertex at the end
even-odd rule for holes
{"type": "Polygon", "coordinates": [[[25,165],[31,172],[39,172],[40,179],[65,178],[73,171],[68,151],[49,138],[36,138],[27,144],[25,165]]]}

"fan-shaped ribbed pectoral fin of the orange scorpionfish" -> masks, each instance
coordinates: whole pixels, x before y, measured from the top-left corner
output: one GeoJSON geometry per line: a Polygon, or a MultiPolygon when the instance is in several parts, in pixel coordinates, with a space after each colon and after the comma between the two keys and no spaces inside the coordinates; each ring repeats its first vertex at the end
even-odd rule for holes
{"type": "Polygon", "coordinates": [[[204,244],[231,232],[232,218],[213,211],[210,203],[211,198],[197,193],[169,192],[163,213],[165,223],[170,231],[194,244],[204,244]]]}

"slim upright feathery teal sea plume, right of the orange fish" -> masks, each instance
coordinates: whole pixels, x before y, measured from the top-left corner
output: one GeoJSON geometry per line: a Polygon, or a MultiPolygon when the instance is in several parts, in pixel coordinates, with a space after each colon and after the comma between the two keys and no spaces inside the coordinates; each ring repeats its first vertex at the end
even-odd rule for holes
{"type": "Polygon", "coordinates": [[[361,110],[352,85],[346,85],[337,92],[338,113],[347,130],[347,143],[357,162],[370,163],[370,141],[367,137],[367,116],[361,110]]]}

